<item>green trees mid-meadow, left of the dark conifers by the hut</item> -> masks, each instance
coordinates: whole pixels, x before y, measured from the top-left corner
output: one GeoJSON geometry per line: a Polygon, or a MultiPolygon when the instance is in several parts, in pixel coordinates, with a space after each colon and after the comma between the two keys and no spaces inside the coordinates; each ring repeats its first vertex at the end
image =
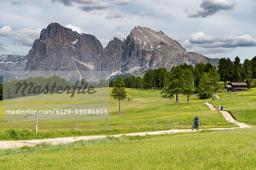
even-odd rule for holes
{"type": "MultiPolygon", "coordinates": [[[[199,94],[200,99],[213,97],[213,92],[216,91],[220,77],[215,66],[210,63],[198,63],[195,68],[192,65],[178,65],[172,67],[171,71],[165,68],[148,70],[143,78],[140,76],[119,77],[123,80],[126,88],[144,88],[162,90],[161,95],[164,98],[174,98],[176,103],[179,103],[179,94],[188,97],[195,92],[199,94]]],[[[115,80],[110,81],[110,87],[113,87],[115,80]]]]}

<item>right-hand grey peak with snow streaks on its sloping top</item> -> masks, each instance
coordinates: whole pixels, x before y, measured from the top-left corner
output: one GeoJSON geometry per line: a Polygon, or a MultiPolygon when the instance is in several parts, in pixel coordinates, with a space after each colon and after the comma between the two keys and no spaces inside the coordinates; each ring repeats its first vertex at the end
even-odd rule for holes
{"type": "Polygon", "coordinates": [[[172,40],[162,31],[155,32],[146,27],[135,27],[124,41],[114,38],[102,52],[96,69],[108,69],[112,75],[143,73],[148,69],[171,67],[182,63],[210,62],[218,65],[218,58],[212,59],[199,53],[187,52],[179,42],[172,40]]]}

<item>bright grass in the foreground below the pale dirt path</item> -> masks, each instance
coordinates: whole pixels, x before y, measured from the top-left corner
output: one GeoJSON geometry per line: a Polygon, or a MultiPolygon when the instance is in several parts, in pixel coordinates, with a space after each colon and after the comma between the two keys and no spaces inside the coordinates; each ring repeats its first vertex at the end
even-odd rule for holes
{"type": "Polygon", "coordinates": [[[255,129],[104,138],[0,152],[4,169],[255,169],[255,129]]]}

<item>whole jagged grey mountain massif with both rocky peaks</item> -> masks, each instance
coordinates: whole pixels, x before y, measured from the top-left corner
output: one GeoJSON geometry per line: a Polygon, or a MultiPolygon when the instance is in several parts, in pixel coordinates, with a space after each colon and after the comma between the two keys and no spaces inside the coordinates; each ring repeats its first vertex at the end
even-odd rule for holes
{"type": "Polygon", "coordinates": [[[146,27],[135,27],[123,41],[115,37],[103,49],[95,36],[51,23],[42,29],[27,60],[25,70],[102,70],[118,75],[141,74],[159,67],[170,70],[181,63],[195,66],[210,62],[217,66],[219,59],[187,52],[162,31],[146,27]]]}

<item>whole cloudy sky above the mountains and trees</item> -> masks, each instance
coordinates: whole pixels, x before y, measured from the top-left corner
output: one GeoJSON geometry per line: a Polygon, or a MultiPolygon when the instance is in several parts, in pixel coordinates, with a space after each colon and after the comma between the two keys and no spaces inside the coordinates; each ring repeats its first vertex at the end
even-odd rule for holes
{"type": "Polygon", "coordinates": [[[256,56],[255,0],[0,0],[0,55],[23,54],[52,22],[103,46],[137,25],[212,58],[256,56]]]}

